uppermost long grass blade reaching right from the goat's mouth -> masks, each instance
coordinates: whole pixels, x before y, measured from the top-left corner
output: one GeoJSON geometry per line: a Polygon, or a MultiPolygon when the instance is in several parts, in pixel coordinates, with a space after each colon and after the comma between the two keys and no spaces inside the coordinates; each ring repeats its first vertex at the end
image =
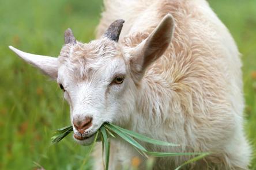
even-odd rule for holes
{"type": "Polygon", "coordinates": [[[108,123],[110,126],[114,126],[116,129],[119,129],[121,132],[124,132],[134,138],[137,138],[140,141],[144,141],[144,142],[148,142],[150,144],[155,144],[155,145],[164,145],[164,146],[179,146],[178,144],[172,144],[170,142],[164,142],[164,141],[159,141],[159,140],[154,140],[152,138],[146,137],[142,134],[139,133],[135,133],[133,131],[127,130],[127,129],[123,129],[122,127],[113,125],[111,123],[108,123]]]}

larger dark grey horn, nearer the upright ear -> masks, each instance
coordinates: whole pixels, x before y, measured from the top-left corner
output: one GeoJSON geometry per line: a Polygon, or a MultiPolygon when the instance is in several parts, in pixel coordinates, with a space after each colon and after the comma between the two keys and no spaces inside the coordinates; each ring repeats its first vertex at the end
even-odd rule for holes
{"type": "Polygon", "coordinates": [[[121,30],[123,28],[124,20],[115,20],[104,33],[104,37],[110,38],[110,40],[118,42],[121,30]]]}

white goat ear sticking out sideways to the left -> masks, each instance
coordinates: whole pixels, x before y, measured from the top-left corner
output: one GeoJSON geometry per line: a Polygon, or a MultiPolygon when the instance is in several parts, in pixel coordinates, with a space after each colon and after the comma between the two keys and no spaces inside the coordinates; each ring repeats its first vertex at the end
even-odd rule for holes
{"type": "Polygon", "coordinates": [[[9,46],[21,59],[27,61],[29,64],[39,68],[44,74],[53,79],[58,76],[58,59],[56,57],[33,55],[31,53],[22,52],[12,46],[9,46]]]}

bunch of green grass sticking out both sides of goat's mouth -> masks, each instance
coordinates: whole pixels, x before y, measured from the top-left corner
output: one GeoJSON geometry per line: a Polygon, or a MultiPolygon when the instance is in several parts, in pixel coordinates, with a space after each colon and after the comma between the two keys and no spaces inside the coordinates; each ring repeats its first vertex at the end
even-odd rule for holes
{"type": "MultiPolygon", "coordinates": [[[[59,141],[65,138],[72,131],[73,131],[72,126],[66,126],[66,127],[62,127],[60,129],[55,130],[54,136],[51,137],[52,144],[57,144],[59,141]]],[[[152,156],[152,157],[195,156],[193,157],[193,159],[186,161],[185,163],[177,167],[175,170],[178,170],[183,166],[193,163],[210,154],[210,153],[193,153],[193,152],[192,153],[190,152],[185,152],[185,153],[151,152],[149,150],[146,150],[146,148],[144,148],[144,146],[142,146],[138,141],[148,142],[154,145],[164,145],[164,146],[170,146],[170,147],[179,146],[179,144],[172,144],[170,142],[154,140],[142,134],[135,133],[127,129],[123,129],[122,127],[116,126],[112,123],[104,123],[100,127],[100,129],[97,130],[92,146],[89,149],[89,152],[87,153],[87,156],[85,157],[82,165],[84,165],[88,160],[88,156],[91,153],[92,148],[95,145],[95,142],[97,141],[97,138],[101,137],[102,148],[103,148],[102,153],[105,153],[104,169],[107,170],[109,165],[109,160],[110,160],[110,141],[111,141],[111,138],[115,138],[116,136],[119,136],[120,138],[122,138],[122,140],[128,142],[131,146],[133,146],[138,151],[138,153],[140,153],[142,156],[146,158],[148,158],[149,156],[152,156]]]]}

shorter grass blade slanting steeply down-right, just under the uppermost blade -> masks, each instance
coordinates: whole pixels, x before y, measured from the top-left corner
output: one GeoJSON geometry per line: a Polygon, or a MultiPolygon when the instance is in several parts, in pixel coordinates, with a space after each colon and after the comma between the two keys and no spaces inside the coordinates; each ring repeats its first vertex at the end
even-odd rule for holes
{"type": "Polygon", "coordinates": [[[118,136],[120,136],[121,138],[123,138],[123,140],[129,142],[131,145],[135,146],[138,149],[141,149],[143,151],[146,152],[146,149],[139,144],[137,141],[135,141],[133,138],[131,138],[130,136],[128,136],[126,133],[121,132],[119,129],[116,129],[116,127],[114,126],[110,126],[107,123],[103,124],[104,127],[106,127],[108,130],[111,130],[112,132],[114,132],[115,134],[118,134],[118,136]]]}

